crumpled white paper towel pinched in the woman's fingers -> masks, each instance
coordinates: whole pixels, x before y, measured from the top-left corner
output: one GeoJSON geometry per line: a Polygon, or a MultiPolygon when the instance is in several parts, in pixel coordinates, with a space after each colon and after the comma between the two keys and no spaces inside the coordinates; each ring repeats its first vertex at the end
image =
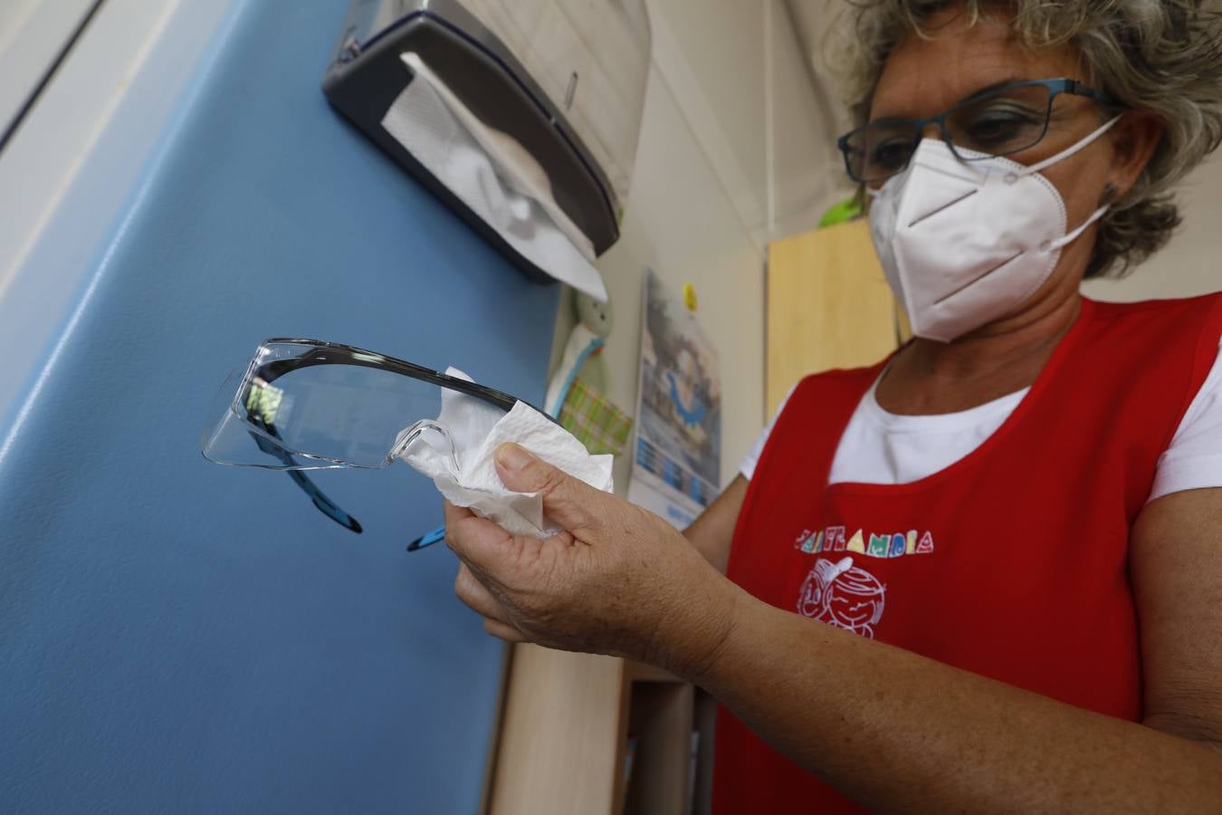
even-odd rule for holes
{"type": "MultiPolygon", "coordinates": [[[[446,371],[470,381],[461,370],[446,371]]],[[[404,451],[402,459],[433,479],[441,495],[459,507],[496,522],[511,534],[549,538],[561,530],[543,513],[538,492],[513,492],[496,474],[496,450],[507,442],[522,445],[543,461],[610,492],[613,456],[591,456],[571,433],[524,402],[508,413],[472,396],[445,390],[437,424],[446,428],[450,446],[437,434],[425,433],[404,451]]]]}

